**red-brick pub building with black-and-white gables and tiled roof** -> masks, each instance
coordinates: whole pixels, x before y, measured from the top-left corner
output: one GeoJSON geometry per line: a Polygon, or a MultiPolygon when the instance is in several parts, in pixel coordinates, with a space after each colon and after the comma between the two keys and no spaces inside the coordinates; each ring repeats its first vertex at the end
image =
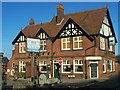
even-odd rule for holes
{"type": "Polygon", "coordinates": [[[8,63],[8,78],[31,77],[32,53],[27,51],[27,38],[40,40],[40,52],[35,53],[34,76],[37,72],[48,78],[102,78],[117,72],[117,43],[108,6],[64,14],[62,4],[50,22],[29,24],[14,38],[12,57],[8,63]],[[15,66],[17,66],[15,68],[15,66]]]}

